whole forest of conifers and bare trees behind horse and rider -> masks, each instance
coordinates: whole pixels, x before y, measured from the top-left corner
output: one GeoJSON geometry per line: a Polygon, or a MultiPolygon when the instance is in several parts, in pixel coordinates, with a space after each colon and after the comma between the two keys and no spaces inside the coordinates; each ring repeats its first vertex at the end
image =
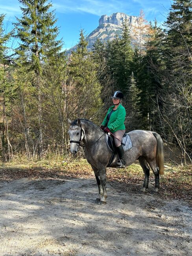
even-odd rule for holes
{"type": "Polygon", "coordinates": [[[163,26],[140,11],[134,38],[125,20],[122,37],[97,39],[92,51],[81,29],[70,54],[58,39],[52,3],[19,2],[22,17],[12,31],[0,14],[0,161],[70,154],[67,119],[100,126],[120,90],[126,132],[158,132],[170,161],[192,163],[191,0],[174,0],[163,26]],[[10,50],[12,38],[19,46],[10,50]]]}

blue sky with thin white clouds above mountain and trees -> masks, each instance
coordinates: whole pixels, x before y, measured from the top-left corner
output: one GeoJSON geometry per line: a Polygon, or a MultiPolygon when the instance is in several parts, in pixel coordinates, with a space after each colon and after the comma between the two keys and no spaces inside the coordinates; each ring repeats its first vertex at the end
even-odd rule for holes
{"type": "MultiPolygon", "coordinates": [[[[122,12],[138,16],[140,9],[148,21],[157,19],[159,24],[166,20],[172,0],[52,0],[60,27],[59,38],[63,38],[65,48],[70,48],[79,39],[79,30],[83,28],[89,35],[98,26],[99,18],[104,15],[122,12]]],[[[0,0],[0,13],[6,14],[4,26],[7,30],[15,22],[15,16],[21,16],[20,3],[17,0],[0,0]]]]}

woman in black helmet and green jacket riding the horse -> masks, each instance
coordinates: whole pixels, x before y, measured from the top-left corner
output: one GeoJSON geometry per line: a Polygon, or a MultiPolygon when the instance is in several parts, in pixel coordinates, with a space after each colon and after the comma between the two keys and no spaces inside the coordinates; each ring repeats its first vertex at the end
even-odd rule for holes
{"type": "Polygon", "coordinates": [[[107,111],[107,115],[105,116],[100,128],[104,132],[111,132],[114,134],[114,143],[119,156],[117,165],[118,167],[125,168],[126,162],[124,160],[124,149],[121,144],[122,137],[126,131],[124,125],[126,110],[121,104],[124,96],[122,92],[115,91],[111,98],[114,105],[107,111]]]}

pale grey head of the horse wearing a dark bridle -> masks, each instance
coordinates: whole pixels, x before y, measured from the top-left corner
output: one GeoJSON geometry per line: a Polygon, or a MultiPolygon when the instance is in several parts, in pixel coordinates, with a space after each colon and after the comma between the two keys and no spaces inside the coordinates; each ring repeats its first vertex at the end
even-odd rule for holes
{"type": "Polygon", "coordinates": [[[76,154],[78,152],[79,144],[84,137],[83,130],[81,128],[81,121],[78,118],[75,121],[70,121],[68,119],[68,122],[70,124],[69,130],[68,130],[69,137],[70,137],[70,152],[72,154],[76,154]]]}

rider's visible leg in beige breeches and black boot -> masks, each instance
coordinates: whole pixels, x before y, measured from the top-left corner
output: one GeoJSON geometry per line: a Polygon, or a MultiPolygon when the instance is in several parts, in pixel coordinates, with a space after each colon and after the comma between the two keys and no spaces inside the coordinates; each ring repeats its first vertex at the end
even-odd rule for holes
{"type": "Polygon", "coordinates": [[[118,139],[116,139],[114,137],[114,143],[116,146],[118,156],[120,158],[120,161],[119,160],[117,161],[117,165],[120,167],[125,167],[125,164],[126,164],[126,162],[124,160],[124,149],[121,145],[121,141],[122,141],[122,137],[123,137],[124,133],[125,133],[125,130],[118,130],[116,132],[113,132],[114,136],[118,138],[118,139]]]}

